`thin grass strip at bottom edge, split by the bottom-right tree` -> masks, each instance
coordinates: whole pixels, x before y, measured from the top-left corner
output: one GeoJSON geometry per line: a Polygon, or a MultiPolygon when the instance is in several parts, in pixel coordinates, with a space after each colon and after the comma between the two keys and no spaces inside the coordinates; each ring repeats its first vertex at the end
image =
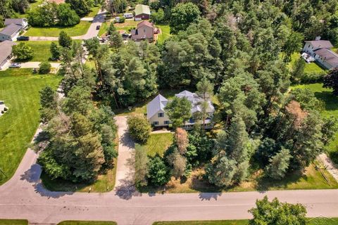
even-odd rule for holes
{"type": "MultiPolygon", "coordinates": [[[[249,220],[214,220],[214,221],[161,221],[153,225],[248,225],[249,220]]],[[[337,225],[338,218],[315,218],[308,219],[308,225],[337,225]]]]}

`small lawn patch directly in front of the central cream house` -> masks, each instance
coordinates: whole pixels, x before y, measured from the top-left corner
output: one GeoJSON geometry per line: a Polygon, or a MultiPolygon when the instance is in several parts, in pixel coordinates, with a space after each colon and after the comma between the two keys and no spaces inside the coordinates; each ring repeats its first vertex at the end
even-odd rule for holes
{"type": "Polygon", "coordinates": [[[173,143],[173,134],[151,134],[144,147],[149,156],[163,155],[165,150],[173,143]]]}

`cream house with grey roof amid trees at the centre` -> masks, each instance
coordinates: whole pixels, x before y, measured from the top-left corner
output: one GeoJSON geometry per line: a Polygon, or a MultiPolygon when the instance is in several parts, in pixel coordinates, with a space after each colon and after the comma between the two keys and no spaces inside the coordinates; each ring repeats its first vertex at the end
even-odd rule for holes
{"type": "MultiPolygon", "coordinates": [[[[201,107],[199,103],[201,103],[202,99],[195,93],[190,91],[182,91],[179,94],[175,94],[177,98],[187,98],[192,103],[191,113],[192,115],[201,112],[201,107]]],[[[170,118],[167,113],[165,113],[165,105],[168,103],[168,99],[164,98],[159,94],[156,96],[148,105],[146,105],[146,117],[151,122],[154,127],[168,127],[170,124],[170,118]]],[[[211,118],[213,117],[213,113],[215,112],[215,108],[213,107],[213,103],[208,101],[208,117],[205,120],[205,128],[211,129],[213,127],[213,122],[211,118]]],[[[184,129],[192,129],[196,121],[194,118],[190,118],[187,122],[184,123],[182,128],[184,129]]]]}

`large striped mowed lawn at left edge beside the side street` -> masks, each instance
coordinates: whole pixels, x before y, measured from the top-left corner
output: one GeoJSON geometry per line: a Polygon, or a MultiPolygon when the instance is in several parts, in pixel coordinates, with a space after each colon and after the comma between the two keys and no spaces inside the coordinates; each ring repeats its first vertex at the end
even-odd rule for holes
{"type": "Polygon", "coordinates": [[[0,71],[0,99],[8,112],[0,117],[0,185],[13,176],[39,125],[39,91],[57,88],[61,77],[32,75],[31,69],[0,71]]]}

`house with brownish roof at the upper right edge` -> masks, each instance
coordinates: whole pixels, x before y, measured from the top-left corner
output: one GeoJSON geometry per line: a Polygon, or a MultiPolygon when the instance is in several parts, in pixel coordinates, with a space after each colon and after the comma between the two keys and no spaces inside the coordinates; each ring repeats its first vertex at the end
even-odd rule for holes
{"type": "Polygon", "coordinates": [[[330,70],[331,68],[338,68],[338,55],[331,50],[332,48],[333,45],[330,41],[305,41],[303,51],[330,70]]]}

